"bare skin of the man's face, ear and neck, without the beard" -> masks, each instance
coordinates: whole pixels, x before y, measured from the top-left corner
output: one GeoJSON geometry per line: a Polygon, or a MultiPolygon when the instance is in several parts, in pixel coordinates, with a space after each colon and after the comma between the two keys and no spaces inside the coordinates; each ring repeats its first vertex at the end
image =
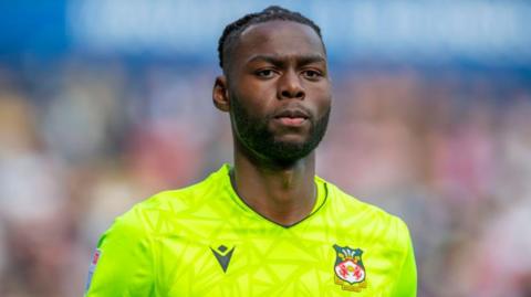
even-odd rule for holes
{"type": "Polygon", "coordinates": [[[251,116],[268,118],[275,141],[306,141],[312,119],[323,117],[332,99],[321,39],[296,22],[253,24],[240,35],[225,73],[216,78],[212,98],[217,108],[231,116],[232,187],[262,216],[283,226],[295,224],[315,204],[315,152],[280,162],[253,150],[240,137],[230,100],[238,98],[251,116]]]}

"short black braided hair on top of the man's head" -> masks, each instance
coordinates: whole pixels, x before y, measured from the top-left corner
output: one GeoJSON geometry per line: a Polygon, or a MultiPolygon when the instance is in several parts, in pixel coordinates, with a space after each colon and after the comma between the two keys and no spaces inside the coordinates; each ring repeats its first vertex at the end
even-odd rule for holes
{"type": "Polygon", "coordinates": [[[225,28],[223,34],[221,34],[221,38],[219,38],[218,42],[219,66],[225,71],[226,57],[228,53],[233,50],[233,46],[240,38],[241,32],[243,32],[251,24],[275,20],[293,21],[309,25],[315,31],[315,33],[317,33],[321,42],[323,41],[323,38],[321,35],[321,29],[312,20],[308,19],[299,12],[290,11],[278,6],[271,6],[262,10],[261,12],[246,14],[225,28]]]}

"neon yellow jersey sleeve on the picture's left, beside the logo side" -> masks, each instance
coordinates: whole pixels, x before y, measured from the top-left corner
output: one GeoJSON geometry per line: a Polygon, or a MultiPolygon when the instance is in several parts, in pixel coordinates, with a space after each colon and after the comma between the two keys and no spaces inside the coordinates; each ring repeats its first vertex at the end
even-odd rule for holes
{"type": "Polygon", "coordinates": [[[152,253],[135,209],[119,216],[97,244],[85,297],[155,296],[152,253]]]}

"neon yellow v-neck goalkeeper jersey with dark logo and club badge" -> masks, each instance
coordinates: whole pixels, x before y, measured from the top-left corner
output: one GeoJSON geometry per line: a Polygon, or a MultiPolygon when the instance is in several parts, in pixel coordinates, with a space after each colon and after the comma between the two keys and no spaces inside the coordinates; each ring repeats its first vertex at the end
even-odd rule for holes
{"type": "Polygon", "coordinates": [[[281,226],[236,194],[229,170],[117,218],[85,296],[416,296],[402,220],[316,177],[312,213],[281,226]]]}

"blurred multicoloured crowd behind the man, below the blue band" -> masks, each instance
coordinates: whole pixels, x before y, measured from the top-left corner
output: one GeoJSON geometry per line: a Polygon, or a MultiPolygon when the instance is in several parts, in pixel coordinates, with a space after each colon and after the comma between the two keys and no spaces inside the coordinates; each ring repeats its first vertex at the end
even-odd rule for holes
{"type": "MultiPolygon", "coordinates": [[[[231,161],[217,71],[0,64],[0,296],[81,296],[134,203],[231,161]]],[[[531,83],[503,72],[341,68],[317,173],[403,218],[419,296],[531,296],[531,83]]]]}

